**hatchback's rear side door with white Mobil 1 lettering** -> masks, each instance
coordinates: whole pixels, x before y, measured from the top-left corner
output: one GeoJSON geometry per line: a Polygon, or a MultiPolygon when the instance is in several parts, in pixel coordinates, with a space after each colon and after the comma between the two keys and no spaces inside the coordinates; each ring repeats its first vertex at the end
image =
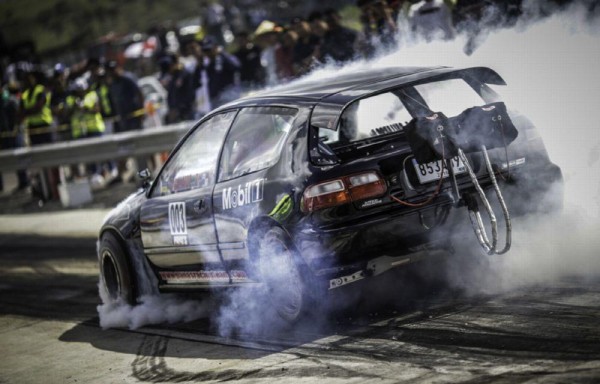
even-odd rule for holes
{"type": "MultiPolygon", "coordinates": [[[[213,194],[219,248],[228,268],[248,257],[248,227],[261,214],[270,167],[280,158],[297,109],[251,107],[240,110],[223,144],[213,194]]],[[[271,209],[272,207],[268,208],[271,209]]]]}

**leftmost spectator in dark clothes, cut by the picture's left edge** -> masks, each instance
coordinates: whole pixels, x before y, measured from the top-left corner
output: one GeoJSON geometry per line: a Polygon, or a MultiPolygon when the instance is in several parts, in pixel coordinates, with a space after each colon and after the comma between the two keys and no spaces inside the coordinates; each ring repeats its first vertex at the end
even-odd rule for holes
{"type": "MultiPolygon", "coordinates": [[[[13,149],[22,146],[23,140],[17,129],[17,111],[19,100],[17,97],[19,89],[16,83],[5,84],[0,95],[0,149],[13,149]]],[[[24,190],[29,186],[27,172],[17,171],[17,189],[24,190]]],[[[4,189],[2,173],[0,173],[0,191],[4,189]]]]}

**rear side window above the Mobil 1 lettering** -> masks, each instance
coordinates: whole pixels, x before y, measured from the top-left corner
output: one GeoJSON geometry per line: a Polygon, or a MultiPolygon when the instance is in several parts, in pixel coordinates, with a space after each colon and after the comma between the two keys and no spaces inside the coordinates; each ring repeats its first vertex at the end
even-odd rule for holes
{"type": "Polygon", "coordinates": [[[219,181],[275,164],[297,113],[284,107],[242,109],[223,146],[219,181]]]}

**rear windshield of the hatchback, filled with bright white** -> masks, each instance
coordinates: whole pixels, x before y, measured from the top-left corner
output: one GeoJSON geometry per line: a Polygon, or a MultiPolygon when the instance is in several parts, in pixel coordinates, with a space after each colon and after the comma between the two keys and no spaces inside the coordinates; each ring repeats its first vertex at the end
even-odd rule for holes
{"type": "Polygon", "coordinates": [[[355,101],[342,113],[337,129],[319,128],[319,137],[325,144],[343,145],[402,132],[416,116],[443,112],[451,117],[484,104],[463,79],[422,83],[355,101]]]}

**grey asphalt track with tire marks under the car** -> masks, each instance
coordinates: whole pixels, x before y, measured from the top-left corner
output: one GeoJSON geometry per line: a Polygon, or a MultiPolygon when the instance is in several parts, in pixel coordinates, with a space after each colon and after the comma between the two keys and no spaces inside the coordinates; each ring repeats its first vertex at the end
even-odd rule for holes
{"type": "Polygon", "coordinates": [[[600,380],[600,277],[472,295],[416,267],[294,329],[222,337],[210,317],[101,329],[89,236],[2,235],[0,250],[0,383],[600,380]]]}

